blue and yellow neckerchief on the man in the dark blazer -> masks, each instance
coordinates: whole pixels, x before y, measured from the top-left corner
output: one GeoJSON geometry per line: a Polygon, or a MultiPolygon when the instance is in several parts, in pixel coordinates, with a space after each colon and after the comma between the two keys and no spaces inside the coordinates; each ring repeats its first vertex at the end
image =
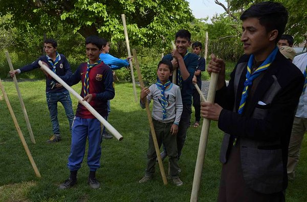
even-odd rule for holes
{"type": "Polygon", "coordinates": [[[248,96],[249,86],[251,86],[253,84],[253,80],[255,78],[257,78],[261,74],[261,72],[264,72],[269,68],[271,63],[274,61],[277,52],[278,52],[278,48],[275,47],[275,49],[267,57],[267,59],[252,74],[251,74],[251,67],[253,65],[254,55],[250,56],[248,63],[247,63],[246,80],[244,82],[245,87],[244,87],[244,90],[242,92],[242,97],[241,97],[241,101],[240,101],[240,105],[239,105],[239,109],[238,109],[238,114],[241,115],[243,113],[244,106],[246,104],[246,100],[247,100],[247,96],[248,96]]]}

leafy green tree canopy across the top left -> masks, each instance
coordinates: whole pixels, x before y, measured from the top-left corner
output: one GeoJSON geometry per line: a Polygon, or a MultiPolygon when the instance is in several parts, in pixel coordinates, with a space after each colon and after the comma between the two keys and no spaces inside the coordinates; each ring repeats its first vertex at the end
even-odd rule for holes
{"type": "Polygon", "coordinates": [[[124,39],[121,14],[125,14],[130,42],[147,47],[165,46],[174,30],[193,20],[185,0],[0,1],[0,16],[7,14],[12,15],[10,25],[20,30],[46,32],[62,24],[83,37],[99,34],[115,43],[124,39]]]}

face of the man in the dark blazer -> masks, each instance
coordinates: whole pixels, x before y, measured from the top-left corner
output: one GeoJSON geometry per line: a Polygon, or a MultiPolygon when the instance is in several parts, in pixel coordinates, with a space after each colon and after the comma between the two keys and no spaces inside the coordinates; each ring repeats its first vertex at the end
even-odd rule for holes
{"type": "MultiPolygon", "coordinates": [[[[262,55],[266,55],[270,45],[275,38],[272,36],[272,32],[276,33],[276,30],[267,33],[264,26],[260,25],[259,20],[254,17],[249,17],[243,21],[242,24],[242,36],[244,53],[247,55],[254,54],[255,59],[262,59],[262,55]]],[[[274,35],[275,36],[275,35],[274,35]]],[[[264,58],[265,59],[265,58],[264,58]]]]}

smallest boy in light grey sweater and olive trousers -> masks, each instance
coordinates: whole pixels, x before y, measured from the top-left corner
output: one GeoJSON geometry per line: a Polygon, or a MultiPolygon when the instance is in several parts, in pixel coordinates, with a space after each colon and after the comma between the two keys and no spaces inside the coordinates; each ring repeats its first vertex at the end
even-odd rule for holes
{"type": "MultiPolygon", "coordinates": [[[[145,99],[152,106],[152,122],[155,128],[159,148],[162,141],[166,147],[169,156],[170,177],[174,185],[181,186],[183,183],[179,178],[178,153],[176,135],[178,125],[182,114],[182,99],[180,87],[170,82],[169,77],[172,75],[172,64],[169,60],[162,60],[158,64],[158,81],[149,88],[145,87],[141,91],[140,105],[145,108],[145,99]]],[[[152,178],[155,172],[156,150],[153,145],[151,132],[149,133],[149,143],[147,151],[147,168],[145,176],[139,183],[145,183],[152,178]]]]}

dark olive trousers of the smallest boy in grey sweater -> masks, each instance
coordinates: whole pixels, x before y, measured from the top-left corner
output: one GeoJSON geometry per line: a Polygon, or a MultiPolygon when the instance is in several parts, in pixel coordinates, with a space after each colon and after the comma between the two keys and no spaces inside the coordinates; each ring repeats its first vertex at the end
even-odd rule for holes
{"type": "MultiPolygon", "coordinates": [[[[162,141],[166,147],[168,158],[169,158],[169,170],[170,176],[176,178],[178,176],[178,158],[177,158],[177,141],[176,135],[170,133],[172,123],[162,123],[160,121],[152,120],[153,127],[155,128],[156,137],[159,148],[161,147],[162,141]]],[[[147,168],[145,175],[152,175],[155,172],[156,165],[156,150],[153,144],[151,132],[149,132],[149,143],[147,151],[147,168]]]]}

